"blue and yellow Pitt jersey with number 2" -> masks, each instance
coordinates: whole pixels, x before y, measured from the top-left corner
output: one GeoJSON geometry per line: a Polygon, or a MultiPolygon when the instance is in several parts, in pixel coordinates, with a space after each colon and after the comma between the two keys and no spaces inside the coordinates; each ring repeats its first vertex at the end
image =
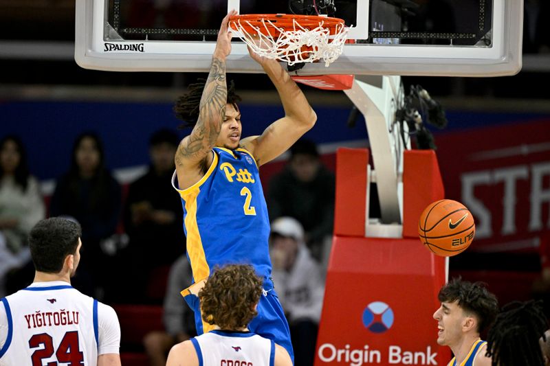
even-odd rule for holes
{"type": "Polygon", "coordinates": [[[179,190],[175,173],[172,179],[184,206],[193,279],[208,278],[214,265],[252,264],[269,289],[270,221],[256,160],[242,148],[212,150],[212,165],[195,185],[179,190]]]}

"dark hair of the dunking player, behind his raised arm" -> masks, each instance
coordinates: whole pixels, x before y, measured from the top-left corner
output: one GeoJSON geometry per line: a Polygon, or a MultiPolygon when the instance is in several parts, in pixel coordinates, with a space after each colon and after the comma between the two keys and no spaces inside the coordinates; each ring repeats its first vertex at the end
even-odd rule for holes
{"type": "MultiPolygon", "coordinates": [[[[195,127],[199,119],[199,106],[201,104],[202,92],[206,85],[206,79],[199,78],[194,84],[189,84],[188,92],[177,98],[173,111],[177,118],[184,121],[179,125],[179,128],[195,127]]],[[[241,97],[235,93],[235,83],[233,80],[228,86],[228,103],[233,104],[235,109],[236,103],[241,102],[241,97]]]]}

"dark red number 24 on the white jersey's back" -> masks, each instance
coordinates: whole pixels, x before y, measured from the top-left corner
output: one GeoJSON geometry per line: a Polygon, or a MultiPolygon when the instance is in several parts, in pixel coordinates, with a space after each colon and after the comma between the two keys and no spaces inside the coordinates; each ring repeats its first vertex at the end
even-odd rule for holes
{"type": "MultiPolygon", "coordinates": [[[[34,334],[29,339],[29,347],[37,348],[44,345],[40,350],[32,353],[32,366],[42,366],[43,358],[50,358],[54,354],[54,341],[52,336],[47,333],[34,334]]],[[[80,352],[78,345],[78,332],[67,332],[63,340],[59,343],[56,351],[57,362],[47,363],[47,366],[57,366],[58,363],[67,364],[67,366],[83,366],[84,354],[80,352]]]]}

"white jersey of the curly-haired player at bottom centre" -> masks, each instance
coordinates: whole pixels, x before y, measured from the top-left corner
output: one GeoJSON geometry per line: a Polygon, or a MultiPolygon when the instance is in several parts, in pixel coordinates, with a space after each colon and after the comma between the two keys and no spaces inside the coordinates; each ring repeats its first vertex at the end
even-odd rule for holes
{"type": "Polygon", "coordinates": [[[211,330],[191,339],[199,366],[273,366],[275,343],[250,332],[211,330]]]}

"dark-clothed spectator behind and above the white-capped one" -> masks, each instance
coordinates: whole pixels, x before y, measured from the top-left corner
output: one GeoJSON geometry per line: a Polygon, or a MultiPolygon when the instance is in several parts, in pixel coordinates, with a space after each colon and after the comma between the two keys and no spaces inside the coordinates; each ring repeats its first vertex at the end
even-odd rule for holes
{"type": "Polygon", "coordinates": [[[290,155],[285,169],[270,181],[270,219],[296,218],[305,229],[311,254],[325,262],[333,231],[335,176],[320,161],[312,141],[299,139],[290,155]]]}

